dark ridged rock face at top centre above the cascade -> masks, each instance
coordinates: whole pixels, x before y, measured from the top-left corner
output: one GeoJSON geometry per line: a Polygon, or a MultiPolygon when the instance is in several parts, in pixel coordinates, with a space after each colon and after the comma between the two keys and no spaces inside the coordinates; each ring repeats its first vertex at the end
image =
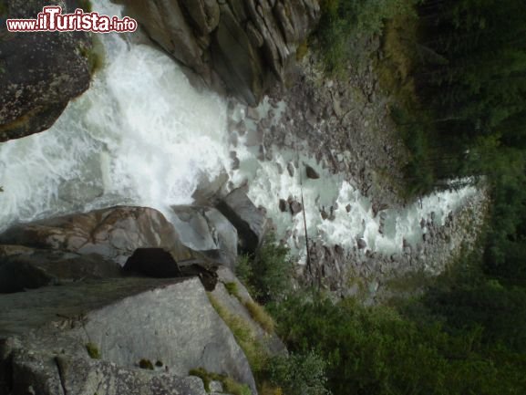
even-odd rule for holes
{"type": "Polygon", "coordinates": [[[255,106],[284,79],[296,46],[318,21],[316,0],[119,0],[153,41],[210,86],[255,106]]]}

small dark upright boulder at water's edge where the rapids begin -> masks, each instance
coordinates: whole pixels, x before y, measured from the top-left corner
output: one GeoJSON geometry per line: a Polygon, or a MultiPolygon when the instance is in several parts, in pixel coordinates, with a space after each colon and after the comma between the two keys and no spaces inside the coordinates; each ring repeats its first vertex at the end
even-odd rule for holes
{"type": "Polygon", "coordinates": [[[237,229],[241,250],[252,254],[263,240],[265,216],[242,189],[230,192],[217,209],[237,229]]]}

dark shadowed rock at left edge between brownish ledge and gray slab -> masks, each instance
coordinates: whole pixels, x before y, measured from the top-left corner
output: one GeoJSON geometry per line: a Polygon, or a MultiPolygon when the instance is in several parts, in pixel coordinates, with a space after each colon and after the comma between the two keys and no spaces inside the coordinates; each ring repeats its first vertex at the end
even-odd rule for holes
{"type": "Polygon", "coordinates": [[[19,248],[18,254],[3,254],[0,250],[0,294],[119,275],[118,264],[96,254],[33,248],[19,248]]]}

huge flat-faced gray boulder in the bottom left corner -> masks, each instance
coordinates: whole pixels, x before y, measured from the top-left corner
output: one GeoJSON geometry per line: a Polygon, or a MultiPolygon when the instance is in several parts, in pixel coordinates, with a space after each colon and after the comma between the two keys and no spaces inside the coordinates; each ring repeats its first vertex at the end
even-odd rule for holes
{"type": "Polygon", "coordinates": [[[181,379],[199,367],[257,393],[242,349],[196,278],[116,279],[0,297],[0,392],[4,384],[12,395],[30,387],[39,395],[201,395],[196,379],[181,379]],[[101,360],[89,359],[88,343],[101,360]],[[164,372],[139,370],[141,359],[162,361],[164,372]]]}

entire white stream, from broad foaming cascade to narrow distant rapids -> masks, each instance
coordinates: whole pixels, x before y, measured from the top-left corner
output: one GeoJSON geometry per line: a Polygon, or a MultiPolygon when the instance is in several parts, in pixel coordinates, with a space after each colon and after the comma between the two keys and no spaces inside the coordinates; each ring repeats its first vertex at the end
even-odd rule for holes
{"type": "MultiPolygon", "coordinates": [[[[100,14],[119,15],[120,6],[96,1],[100,14]]],[[[127,43],[122,36],[100,36],[106,66],[91,88],[73,100],[44,133],[0,144],[0,230],[63,213],[116,204],[137,204],[170,213],[172,204],[191,203],[199,182],[229,169],[226,102],[198,92],[173,60],[157,49],[127,43]]],[[[263,103],[261,111],[268,111],[263,103]]],[[[279,111],[277,115],[279,116],[279,111]]],[[[244,117],[241,114],[240,117],[244,117]]],[[[297,153],[276,150],[274,161],[258,161],[257,152],[241,147],[239,171],[229,171],[234,185],[248,180],[250,196],[263,205],[278,234],[293,234],[290,245],[303,246],[303,216],[281,213],[280,198],[300,198],[299,172],[283,169],[297,153]],[[294,238],[294,233],[296,237],[294,238]]],[[[418,243],[422,218],[432,212],[438,223],[477,191],[442,192],[399,211],[387,211],[384,234],[371,204],[343,177],[331,175],[303,153],[320,180],[304,180],[308,231],[328,244],[351,248],[364,238],[368,248],[389,254],[403,239],[418,243]],[[335,219],[324,221],[319,209],[337,203],[335,219]],[[346,211],[347,204],[351,210],[346,211]]],[[[300,166],[301,167],[301,166],[300,166]]],[[[303,167],[302,167],[303,169],[303,167]]]]}

